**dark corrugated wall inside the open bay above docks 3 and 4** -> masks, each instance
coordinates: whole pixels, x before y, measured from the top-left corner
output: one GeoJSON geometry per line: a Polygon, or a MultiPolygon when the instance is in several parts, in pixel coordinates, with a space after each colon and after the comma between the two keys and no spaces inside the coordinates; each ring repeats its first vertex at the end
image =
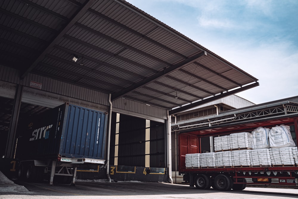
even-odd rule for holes
{"type": "MultiPolygon", "coordinates": [[[[146,119],[117,114],[112,113],[110,164],[145,166],[146,119]]],[[[164,123],[150,121],[150,167],[166,167],[165,134],[164,123]]]]}

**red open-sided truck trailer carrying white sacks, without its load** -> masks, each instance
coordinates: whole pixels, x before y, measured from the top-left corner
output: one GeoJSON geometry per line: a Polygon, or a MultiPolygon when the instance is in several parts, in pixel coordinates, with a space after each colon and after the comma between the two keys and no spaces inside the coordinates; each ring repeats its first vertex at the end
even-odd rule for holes
{"type": "MultiPolygon", "coordinates": [[[[230,189],[243,190],[247,184],[278,185],[297,187],[297,165],[280,166],[242,166],[221,168],[186,168],[185,155],[188,153],[201,153],[201,138],[206,136],[226,135],[237,132],[251,132],[257,127],[275,127],[285,124],[294,125],[295,135],[298,138],[298,114],[286,114],[261,120],[249,120],[226,123],[214,127],[198,128],[189,132],[181,132],[178,136],[179,146],[179,174],[183,174],[185,182],[190,187],[209,189],[211,186],[217,190],[230,189]]],[[[296,146],[297,147],[297,146],[296,146]]]]}

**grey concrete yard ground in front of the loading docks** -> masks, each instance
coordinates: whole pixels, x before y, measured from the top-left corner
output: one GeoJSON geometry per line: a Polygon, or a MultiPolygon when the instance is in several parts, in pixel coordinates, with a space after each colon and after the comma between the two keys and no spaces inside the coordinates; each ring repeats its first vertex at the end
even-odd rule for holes
{"type": "Polygon", "coordinates": [[[76,186],[16,182],[28,191],[0,190],[0,198],[298,198],[298,189],[247,187],[243,191],[199,190],[188,185],[153,182],[77,181],[76,186]]]}

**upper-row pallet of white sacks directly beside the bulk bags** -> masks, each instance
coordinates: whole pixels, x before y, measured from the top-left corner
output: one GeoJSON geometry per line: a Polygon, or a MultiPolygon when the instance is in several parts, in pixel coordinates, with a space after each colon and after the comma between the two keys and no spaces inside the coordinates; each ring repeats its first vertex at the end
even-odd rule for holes
{"type": "Polygon", "coordinates": [[[230,134],[231,149],[252,149],[252,134],[249,132],[230,134]]]}

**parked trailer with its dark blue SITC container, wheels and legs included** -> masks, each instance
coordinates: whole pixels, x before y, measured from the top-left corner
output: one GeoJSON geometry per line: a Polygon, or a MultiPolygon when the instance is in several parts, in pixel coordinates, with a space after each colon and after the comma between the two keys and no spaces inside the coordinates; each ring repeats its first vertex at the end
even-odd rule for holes
{"type": "Polygon", "coordinates": [[[107,113],[65,103],[18,127],[18,179],[75,185],[81,164],[104,164],[107,113]]]}

